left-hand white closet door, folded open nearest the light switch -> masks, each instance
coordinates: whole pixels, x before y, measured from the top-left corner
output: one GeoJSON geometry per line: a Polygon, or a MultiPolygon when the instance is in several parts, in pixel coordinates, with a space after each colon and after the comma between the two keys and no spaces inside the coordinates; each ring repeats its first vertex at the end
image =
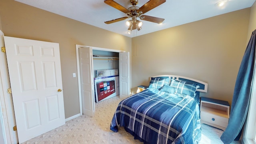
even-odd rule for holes
{"type": "Polygon", "coordinates": [[[92,48],[78,48],[83,114],[94,116],[94,82],[92,75],[92,48]]]}

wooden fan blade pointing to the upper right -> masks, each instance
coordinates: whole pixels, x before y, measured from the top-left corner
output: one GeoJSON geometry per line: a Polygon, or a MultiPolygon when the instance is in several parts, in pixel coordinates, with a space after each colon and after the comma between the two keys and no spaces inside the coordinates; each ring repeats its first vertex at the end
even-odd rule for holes
{"type": "Polygon", "coordinates": [[[137,12],[142,12],[145,14],[146,12],[152,10],[153,8],[159,6],[160,4],[166,2],[166,0],[150,0],[146,4],[144,4],[142,7],[140,7],[137,12]]]}

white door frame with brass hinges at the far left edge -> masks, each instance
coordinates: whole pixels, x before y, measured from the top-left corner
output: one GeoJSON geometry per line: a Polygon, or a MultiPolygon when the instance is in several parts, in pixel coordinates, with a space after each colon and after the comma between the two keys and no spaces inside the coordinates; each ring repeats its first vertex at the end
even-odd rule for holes
{"type": "MultiPolygon", "coordinates": [[[[0,46],[4,47],[4,33],[1,30],[0,46]]],[[[2,51],[0,53],[0,59],[2,61],[0,65],[0,82],[2,82],[2,86],[0,87],[0,112],[2,112],[2,116],[0,116],[0,118],[2,122],[2,132],[5,144],[17,144],[18,134],[16,131],[13,131],[13,126],[15,126],[16,123],[12,105],[12,95],[7,92],[7,89],[10,88],[10,80],[7,69],[6,54],[2,51]]]]}

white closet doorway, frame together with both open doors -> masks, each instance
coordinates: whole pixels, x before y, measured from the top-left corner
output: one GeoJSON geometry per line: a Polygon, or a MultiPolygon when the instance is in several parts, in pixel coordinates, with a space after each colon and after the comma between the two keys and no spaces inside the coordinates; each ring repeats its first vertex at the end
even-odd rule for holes
{"type": "Polygon", "coordinates": [[[95,91],[94,91],[94,58],[93,51],[106,52],[106,56],[96,57],[111,60],[116,56],[108,56],[107,53],[118,53],[119,63],[119,96],[121,99],[130,96],[130,58],[129,52],[112,50],[92,46],[76,45],[78,90],[80,101],[80,115],[94,116],[95,113],[95,91]]]}

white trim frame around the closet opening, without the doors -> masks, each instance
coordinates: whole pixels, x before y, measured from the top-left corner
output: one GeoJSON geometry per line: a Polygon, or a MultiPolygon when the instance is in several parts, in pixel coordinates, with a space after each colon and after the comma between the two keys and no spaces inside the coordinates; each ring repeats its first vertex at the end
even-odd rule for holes
{"type": "Polygon", "coordinates": [[[80,80],[80,61],[79,61],[79,52],[78,48],[92,48],[92,50],[101,50],[101,51],[108,51],[108,52],[125,52],[124,50],[113,50],[108,48],[98,48],[93,46],[84,46],[76,44],[76,65],[77,65],[77,78],[78,78],[78,95],[79,95],[79,105],[80,105],[80,116],[83,114],[82,110],[82,94],[81,94],[81,80],[80,80]]]}

